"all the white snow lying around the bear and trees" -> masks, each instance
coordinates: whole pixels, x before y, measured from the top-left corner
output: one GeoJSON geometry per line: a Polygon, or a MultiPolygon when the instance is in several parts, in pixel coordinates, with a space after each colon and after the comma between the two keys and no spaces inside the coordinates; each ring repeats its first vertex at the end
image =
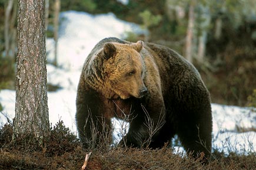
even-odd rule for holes
{"type": "MultiPolygon", "coordinates": [[[[77,133],[75,124],[75,98],[82,65],[92,47],[109,36],[124,38],[128,31],[141,32],[138,25],[121,21],[112,13],[91,15],[85,12],[68,11],[61,13],[58,40],[58,64],[56,68],[47,64],[48,83],[61,89],[48,92],[49,120],[52,125],[59,120],[77,133]]],[[[48,61],[54,59],[54,41],[46,40],[48,61]]],[[[4,110],[0,113],[0,126],[15,117],[15,91],[1,90],[0,102],[4,110]]],[[[228,154],[256,152],[256,109],[212,104],[213,148],[228,154]],[[252,131],[254,129],[254,131],[252,131]]],[[[115,119],[115,142],[119,141],[118,131],[123,124],[115,119]],[[119,125],[118,125],[119,124],[119,125]]],[[[127,128],[125,128],[127,131],[127,128]]],[[[182,152],[181,147],[175,151],[182,152]]]]}

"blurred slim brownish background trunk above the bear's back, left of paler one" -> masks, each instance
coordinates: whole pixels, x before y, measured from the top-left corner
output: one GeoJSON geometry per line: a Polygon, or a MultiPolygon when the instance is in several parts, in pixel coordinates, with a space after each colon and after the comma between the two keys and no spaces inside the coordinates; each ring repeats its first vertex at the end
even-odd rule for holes
{"type": "Polygon", "coordinates": [[[185,57],[186,59],[192,63],[192,38],[193,38],[193,30],[194,30],[194,6],[195,1],[191,1],[189,5],[189,12],[188,12],[188,29],[187,29],[187,37],[186,37],[186,44],[185,44],[185,57]]]}

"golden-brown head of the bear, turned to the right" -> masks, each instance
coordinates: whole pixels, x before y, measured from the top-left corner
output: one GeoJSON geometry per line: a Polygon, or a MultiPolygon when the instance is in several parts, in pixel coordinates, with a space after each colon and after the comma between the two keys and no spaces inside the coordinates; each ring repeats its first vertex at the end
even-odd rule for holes
{"type": "Polygon", "coordinates": [[[105,43],[102,69],[105,83],[114,92],[112,98],[141,98],[147,93],[144,84],[145,64],[139,54],[143,42],[133,44],[105,43]]]}

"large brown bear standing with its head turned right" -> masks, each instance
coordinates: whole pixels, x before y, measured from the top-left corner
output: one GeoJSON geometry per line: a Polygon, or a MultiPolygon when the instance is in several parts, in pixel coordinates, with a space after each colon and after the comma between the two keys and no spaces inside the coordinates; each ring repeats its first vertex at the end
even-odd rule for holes
{"type": "Polygon", "coordinates": [[[197,69],[168,47],[105,38],[89,53],[77,90],[76,120],[85,147],[122,115],[130,115],[130,125],[120,145],[145,147],[150,138],[147,146],[159,148],[177,134],[195,157],[210,155],[210,94],[197,69]]]}

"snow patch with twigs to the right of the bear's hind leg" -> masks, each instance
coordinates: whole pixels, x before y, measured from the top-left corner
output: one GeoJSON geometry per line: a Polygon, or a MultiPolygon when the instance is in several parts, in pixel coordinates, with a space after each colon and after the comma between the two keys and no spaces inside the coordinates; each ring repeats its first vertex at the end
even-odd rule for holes
{"type": "Polygon", "coordinates": [[[214,148],[224,153],[256,151],[255,108],[212,104],[212,118],[214,148]]]}

